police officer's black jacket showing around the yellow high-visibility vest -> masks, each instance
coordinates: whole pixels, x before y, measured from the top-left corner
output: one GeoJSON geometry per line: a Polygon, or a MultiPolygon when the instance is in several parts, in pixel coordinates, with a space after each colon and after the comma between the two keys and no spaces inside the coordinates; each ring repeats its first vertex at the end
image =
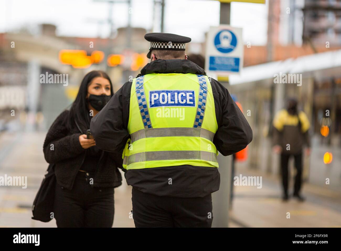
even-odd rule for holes
{"type": "MultiPolygon", "coordinates": [[[[158,59],[147,64],[141,74],[194,73],[204,70],[186,59],[158,59]]],[[[224,156],[244,149],[252,140],[252,130],[246,118],[232,100],[227,89],[211,79],[218,130],[213,143],[224,156]]],[[[105,151],[121,150],[130,137],[129,120],[130,90],[132,82],[126,82],[106,106],[91,120],[91,134],[97,146],[105,151]]],[[[203,197],[219,190],[218,168],[190,165],[131,169],[125,173],[128,185],[158,196],[203,197]],[[172,185],[168,179],[172,178],[172,185]]]]}

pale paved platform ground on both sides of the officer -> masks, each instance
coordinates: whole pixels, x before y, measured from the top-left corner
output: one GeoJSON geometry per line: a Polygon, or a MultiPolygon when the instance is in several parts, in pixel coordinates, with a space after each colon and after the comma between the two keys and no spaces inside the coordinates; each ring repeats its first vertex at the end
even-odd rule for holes
{"type": "MultiPolygon", "coordinates": [[[[0,227],[56,227],[55,220],[43,223],[31,219],[31,206],[48,166],[42,150],[44,138],[45,132],[0,135],[0,176],[28,177],[26,189],[0,186],[0,227]]],[[[234,186],[229,227],[341,227],[340,193],[305,184],[305,202],[291,199],[284,203],[277,177],[237,168],[236,176],[240,173],[262,176],[262,188],[234,186]]],[[[131,210],[131,186],[123,182],[115,189],[113,227],[134,227],[131,210]]]]}

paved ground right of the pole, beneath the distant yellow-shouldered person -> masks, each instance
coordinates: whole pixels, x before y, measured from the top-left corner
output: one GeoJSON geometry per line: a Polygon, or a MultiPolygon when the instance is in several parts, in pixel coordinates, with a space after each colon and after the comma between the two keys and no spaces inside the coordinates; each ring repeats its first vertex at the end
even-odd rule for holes
{"type": "Polygon", "coordinates": [[[242,176],[263,175],[263,184],[261,189],[234,186],[229,215],[233,223],[244,227],[341,227],[339,193],[306,183],[302,189],[304,202],[294,198],[283,202],[279,179],[250,170],[241,170],[236,176],[240,173],[242,176]]]}

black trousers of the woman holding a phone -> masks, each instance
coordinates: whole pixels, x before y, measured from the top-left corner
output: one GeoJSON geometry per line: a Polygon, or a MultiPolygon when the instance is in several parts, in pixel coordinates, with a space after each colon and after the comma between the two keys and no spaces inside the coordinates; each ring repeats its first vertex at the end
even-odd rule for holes
{"type": "Polygon", "coordinates": [[[78,172],[72,190],[56,182],[54,213],[57,227],[112,227],[114,187],[91,187],[89,178],[78,172]]]}

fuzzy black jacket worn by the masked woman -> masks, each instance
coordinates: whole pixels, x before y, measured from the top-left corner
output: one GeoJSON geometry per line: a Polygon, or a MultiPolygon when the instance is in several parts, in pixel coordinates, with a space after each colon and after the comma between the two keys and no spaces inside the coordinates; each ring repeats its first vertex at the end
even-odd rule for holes
{"type": "MultiPolygon", "coordinates": [[[[47,132],[43,151],[48,163],[55,164],[57,183],[66,189],[72,189],[78,170],[82,166],[86,150],[79,143],[79,131],[74,123],[68,130],[66,123],[69,111],[63,111],[47,132]],[[53,146],[51,146],[53,144],[53,146]],[[53,149],[53,150],[52,150],[53,149]]],[[[117,167],[122,167],[122,151],[100,151],[101,158],[94,173],[93,187],[117,187],[122,184],[121,173],[117,167]]]]}

